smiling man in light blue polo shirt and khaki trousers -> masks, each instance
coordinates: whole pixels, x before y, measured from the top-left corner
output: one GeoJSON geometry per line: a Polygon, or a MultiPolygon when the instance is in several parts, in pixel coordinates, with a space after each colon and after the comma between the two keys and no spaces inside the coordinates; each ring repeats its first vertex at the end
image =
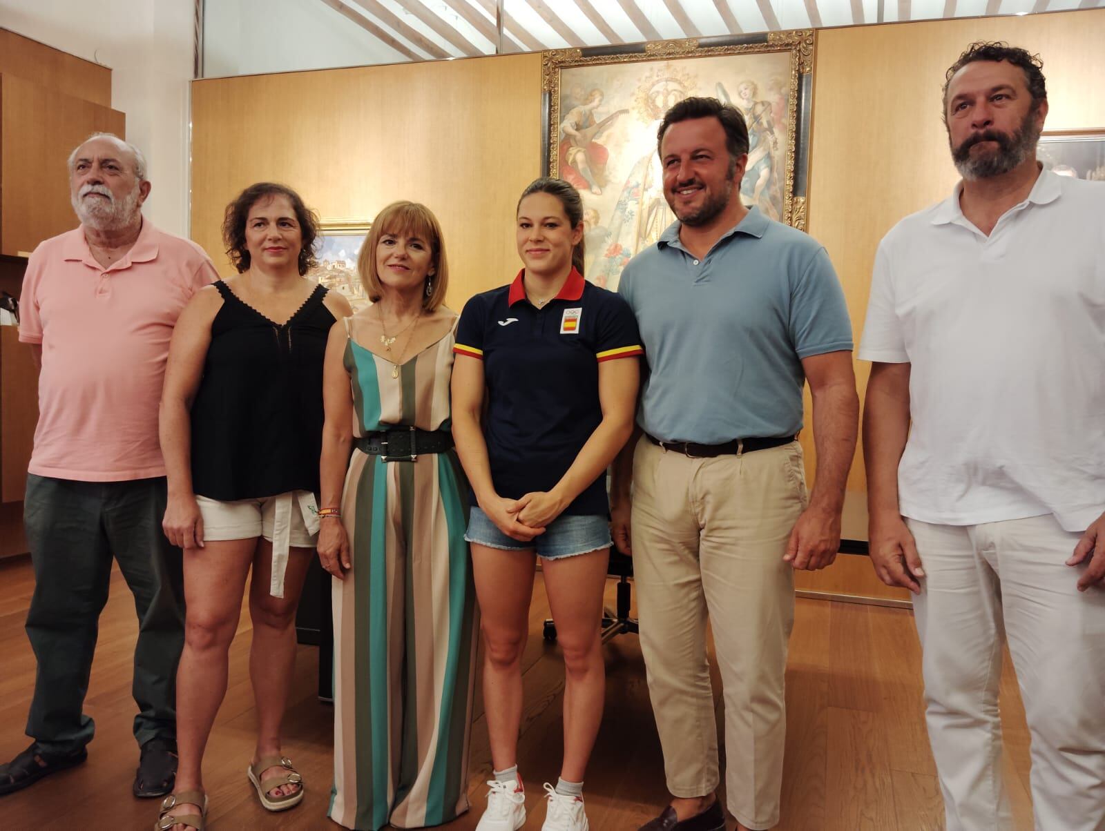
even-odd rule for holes
{"type": "Polygon", "coordinates": [[[779,821],[792,569],[840,543],[859,400],[852,327],[821,245],[740,203],[748,132],[715,98],[660,127],[678,221],[622,272],[648,360],[614,469],[614,541],[632,550],[641,648],[667,789],[642,831],[722,831],[706,620],[725,690],[726,793],[738,829],[779,821]],[[802,386],[813,395],[817,480],[807,494],[802,386]],[[632,482],[632,503],[630,491],[632,482]]]}

